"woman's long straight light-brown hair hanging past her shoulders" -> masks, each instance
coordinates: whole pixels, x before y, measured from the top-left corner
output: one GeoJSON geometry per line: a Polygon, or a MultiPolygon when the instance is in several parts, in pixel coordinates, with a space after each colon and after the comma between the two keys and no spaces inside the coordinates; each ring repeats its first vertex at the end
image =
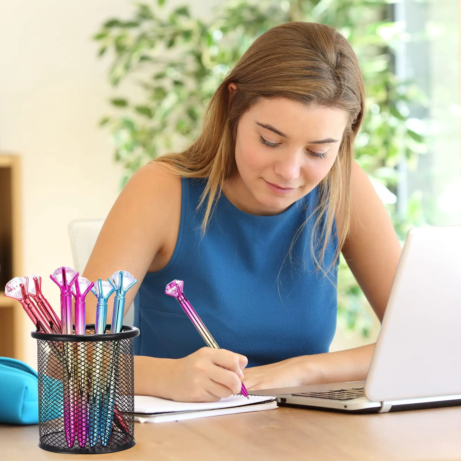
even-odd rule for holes
{"type": "MultiPolygon", "coordinates": [[[[349,113],[337,159],[319,183],[319,201],[311,215],[315,216],[311,254],[317,268],[326,274],[335,264],[349,232],[354,139],[365,106],[357,58],[349,42],[336,29],[323,24],[292,22],[260,35],[214,92],[199,138],[185,151],[165,154],[154,161],[166,163],[181,177],[207,178],[199,203],[201,207],[206,201],[201,225],[205,233],[225,180],[236,173],[235,145],[240,116],[260,98],[280,97],[349,113]],[[231,82],[236,83],[237,89],[230,100],[231,82]],[[334,238],[333,222],[339,208],[344,210],[341,238],[333,262],[325,272],[325,251],[334,238]]],[[[290,252],[301,229],[296,232],[290,252]]]]}

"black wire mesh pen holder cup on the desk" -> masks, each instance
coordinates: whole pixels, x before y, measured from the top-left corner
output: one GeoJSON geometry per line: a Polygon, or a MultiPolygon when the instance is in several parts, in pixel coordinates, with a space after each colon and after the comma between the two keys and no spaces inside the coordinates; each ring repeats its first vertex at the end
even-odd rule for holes
{"type": "Polygon", "coordinates": [[[98,454],[136,445],[133,338],[139,330],[95,335],[31,333],[37,340],[38,446],[55,453],[98,454]]]}

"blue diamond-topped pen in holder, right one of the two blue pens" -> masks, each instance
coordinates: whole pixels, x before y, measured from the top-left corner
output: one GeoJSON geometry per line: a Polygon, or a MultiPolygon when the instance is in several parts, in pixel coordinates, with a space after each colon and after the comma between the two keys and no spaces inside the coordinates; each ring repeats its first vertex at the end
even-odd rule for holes
{"type": "MultiPolygon", "coordinates": [[[[137,279],[130,272],[117,271],[109,278],[109,283],[115,290],[114,306],[112,311],[111,333],[120,333],[122,331],[123,317],[125,312],[125,295],[130,288],[136,284],[137,279]]],[[[118,343],[115,343],[118,344],[118,343]]],[[[118,350],[111,350],[111,344],[107,343],[109,348],[108,356],[112,358],[112,363],[109,365],[109,374],[106,375],[104,383],[102,406],[101,406],[101,443],[107,445],[112,433],[112,420],[115,404],[115,386],[118,370],[118,350]]]]}

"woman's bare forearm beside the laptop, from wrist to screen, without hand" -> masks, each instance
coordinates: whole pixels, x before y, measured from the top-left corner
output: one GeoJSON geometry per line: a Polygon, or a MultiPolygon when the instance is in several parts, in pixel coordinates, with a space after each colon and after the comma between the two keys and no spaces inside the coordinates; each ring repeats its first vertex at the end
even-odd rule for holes
{"type": "Polygon", "coordinates": [[[344,381],[364,381],[372,360],[375,343],[354,349],[325,354],[296,357],[302,372],[304,384],[341,383],[344,381]]]}

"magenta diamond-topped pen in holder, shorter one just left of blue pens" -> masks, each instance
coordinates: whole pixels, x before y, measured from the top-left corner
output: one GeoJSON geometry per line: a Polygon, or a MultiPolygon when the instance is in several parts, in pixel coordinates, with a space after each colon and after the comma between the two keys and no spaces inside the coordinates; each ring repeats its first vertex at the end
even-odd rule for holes
{"type": "MultiPolygon", "coordinates": [[[[93,288],[94,282],[90,282],[88,278],[78,277],[71,286],[72,295],[74,295],[75,303],[75,334],[86,334],[86,312],[85,312],[85,296],[89,290],[93,288]]],[[[80,448],[84,448],[88,435],[88,392],[87,392],[87,360],[85,354],[85,346],[82,343],[77,343],[77,396],[75,405],[75,425],[77,432],[77,440],[80,448]]]]}

